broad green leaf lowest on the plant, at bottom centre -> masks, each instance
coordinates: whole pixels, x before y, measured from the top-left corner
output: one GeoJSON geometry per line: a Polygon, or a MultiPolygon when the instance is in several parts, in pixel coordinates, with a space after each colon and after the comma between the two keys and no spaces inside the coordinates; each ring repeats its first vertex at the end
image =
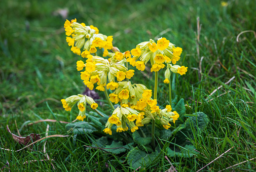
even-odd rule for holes
{"type": "Polygon", "coordinates": [[[137,169],[140,166],[145,166],[148,163],[154,161],[158,154],[158,151],[147,154],[146,152],[140,150],[138,147],[135,147],[128,153],[126,158],[128,164],[134,169],[137,169]]]}

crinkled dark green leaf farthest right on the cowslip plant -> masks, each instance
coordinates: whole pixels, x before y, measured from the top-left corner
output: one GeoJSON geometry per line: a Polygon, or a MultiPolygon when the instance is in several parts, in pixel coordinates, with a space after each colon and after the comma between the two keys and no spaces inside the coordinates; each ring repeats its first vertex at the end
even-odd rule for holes
{"type": "Polygon", "coordinates": [[[183,127],[176,133],[176,144],[178,145],[185,145],[188,144],[188,138],[194,139],[194,135],[197,134],[198,128],[204,128],[209,122],[208,116],[203,112],[193,113],[193,115],[197,116],[190,116],[184,124],[181,124],[180,127],[183,127]],[[194,134],[193,131],[195,130],[194,134]]]}

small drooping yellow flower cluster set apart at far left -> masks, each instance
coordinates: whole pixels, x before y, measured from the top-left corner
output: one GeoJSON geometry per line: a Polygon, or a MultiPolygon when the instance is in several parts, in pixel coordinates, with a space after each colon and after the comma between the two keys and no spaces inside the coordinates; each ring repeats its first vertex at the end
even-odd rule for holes
{"type": "Polygon", "coordinates": [[[95,103],[95,101],[86,95],[74,95],[70,96],[66,99],[61,99],[63,108],[65,108],[66,111],[71,111],[71,108],[77,103],[79,114],[77,116],[78,120],[84,120],[86,118],[85,111],[86,111],[86,104],[88,103],[92,109],[96,109],[98,107],[98,104],[95,103]]]}

